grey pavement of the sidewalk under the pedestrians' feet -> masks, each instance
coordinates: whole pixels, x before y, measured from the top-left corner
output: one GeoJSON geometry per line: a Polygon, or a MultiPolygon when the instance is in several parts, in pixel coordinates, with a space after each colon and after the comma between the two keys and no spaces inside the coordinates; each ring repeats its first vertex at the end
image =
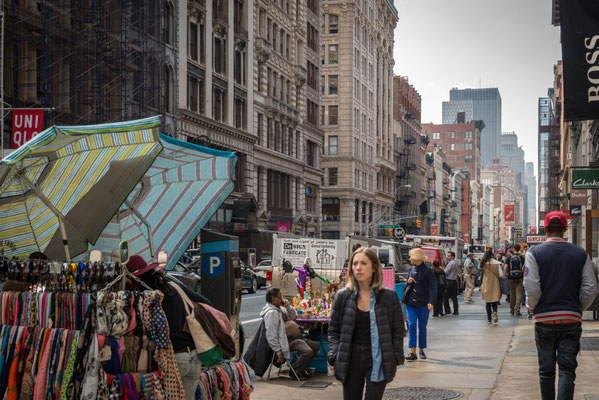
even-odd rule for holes
{"type": "MultiPolygon", "coordinates": [[[[459,298],[460,315],[431,318],[428,324],[427,360],[406,362],[387,385],[385,399],[503,400],[539,399],[534,324],[511,316],[509,304],[499,307],[499,322],[487,322],[485,303],[477,291],[473,304],[459,298]],[[406,388],[417,394],[408,394],[406,388]],[[394,389],[401,389],[397,393],[394,389]],[[445,393],[440,390],[445,389],[445,393]],[[437,394],[431,392],[438,391],[437,394]],[[395,393],[393,393],[395,392],[395,393]],[[448,393],[448,394],[447,394],[448,393]],[[423,396],[426,395],[426,396],[423,396]],[[418,397],[417,397],[418,396],[418,397]],[[453,397],[451,397],[453,396],[453,397]]],[[[524,310],[524,308],[522,308],[524,310]]],[[[407,337],[404,340],[407,349],[407,337]]],[[[578,355],[575,399],[599,400],[599,321],[586,312],[582,350],[578,355]],[[596,350],[592,350],[595,348],[596,350]]],[[[341,400],[342,386],[332,376],[317,374],[310,381],[330,382],[324,389],[300,387],[283,370],[273,368],[269,380],[252,376],[252,400],[341,400]]]]}

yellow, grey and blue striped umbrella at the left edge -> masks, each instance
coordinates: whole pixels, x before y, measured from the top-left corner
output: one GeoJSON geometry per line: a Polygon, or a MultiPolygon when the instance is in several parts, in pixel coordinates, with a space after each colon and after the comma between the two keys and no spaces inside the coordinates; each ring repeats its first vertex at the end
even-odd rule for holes
{"type": "Polygon", "coordinates": [[[1,160],[0,252],[85,252],[160,153],[159,125],[54,126],[1,160]]]}

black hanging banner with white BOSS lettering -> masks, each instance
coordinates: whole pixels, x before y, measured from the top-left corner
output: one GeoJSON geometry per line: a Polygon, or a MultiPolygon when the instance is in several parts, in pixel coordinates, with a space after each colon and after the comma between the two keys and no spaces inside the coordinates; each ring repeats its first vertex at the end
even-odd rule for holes
{"type": "Polygon", "coordinates": [[[564,119],[599,119],[599,0],[561,0],[564,119]]]}

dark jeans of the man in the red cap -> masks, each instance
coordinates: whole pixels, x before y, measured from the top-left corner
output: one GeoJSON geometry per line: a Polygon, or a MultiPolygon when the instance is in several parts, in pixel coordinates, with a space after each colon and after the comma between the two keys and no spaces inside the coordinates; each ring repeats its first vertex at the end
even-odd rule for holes
{"type": "Polygon", "coordinates": [[[535,324],[535,341],[539,358],[541,398],[555,399],[555,363],[559,365],[558,400],[574,398],[576,356],[580,351],[580,322],[570,324],[535,324]]]}

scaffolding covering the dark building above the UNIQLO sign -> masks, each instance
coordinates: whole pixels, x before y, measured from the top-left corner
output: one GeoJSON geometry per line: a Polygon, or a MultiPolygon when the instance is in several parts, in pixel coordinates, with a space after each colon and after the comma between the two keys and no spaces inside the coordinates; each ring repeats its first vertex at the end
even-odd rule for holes
{"type": "Polygon", "coordinates": [[[164,4],[4,0],[6,106],[52,108],[45,126],[164,115],[164,4]]]}

